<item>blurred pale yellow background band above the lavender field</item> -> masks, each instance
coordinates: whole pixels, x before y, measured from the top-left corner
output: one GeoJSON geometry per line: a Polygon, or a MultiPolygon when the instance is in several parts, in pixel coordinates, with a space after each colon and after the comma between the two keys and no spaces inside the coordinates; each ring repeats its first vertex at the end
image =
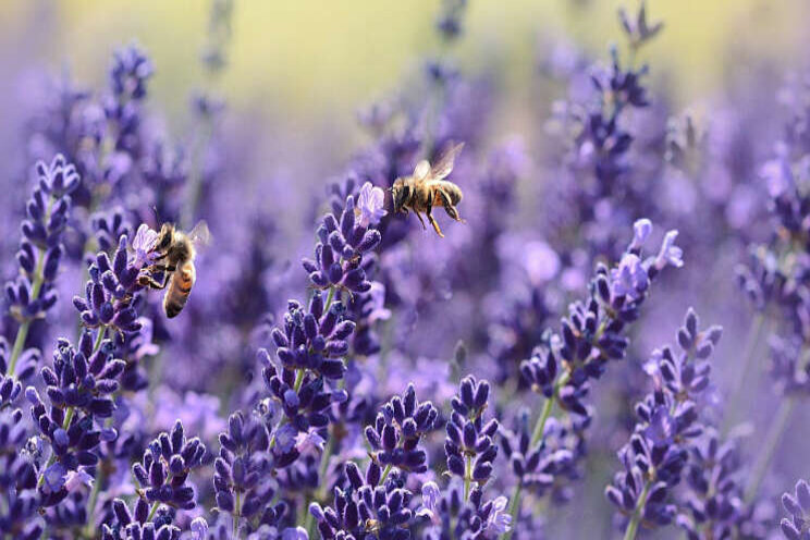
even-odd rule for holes
{"type": "MultiPolygon", "coordinates": [[[[407,84],[420,56],[435,49],[438,0],[235,0],[231,66],[222,88],[232,103],[318,115],[356,107],[407,84]]],[[[566,33],[594,54],[618,39],[615,11],[634,0],[469,0],[467,33],[455,53],[475,69],[507,58],[507,88],[532,76],[538,36],[566,33]]],[[[156,100],[182,110],[199,81],[205,0],[4,0],[0,30],[44,26],[33,51],[53,69],[66,63],[82,81],[99,82],[115,46],[135,39],[157,65],[156,100]]],[[[666,28],[648,51],[673,71],[683,102],[714,88],[739,51],[791,62],[807,49],[807,0],[651,0],[666,28]],[[802,41],[803,39],[803,41],[802,41]],[[734,54],[729,52],[736,51],[734,54]]],[[[10,37],[11,36],[11,37],[10,37]]],[[[16,36],[20,38],[20,36],[16,36]]],[[[24,42],[24,41],[20,41],[24,42]]]]}

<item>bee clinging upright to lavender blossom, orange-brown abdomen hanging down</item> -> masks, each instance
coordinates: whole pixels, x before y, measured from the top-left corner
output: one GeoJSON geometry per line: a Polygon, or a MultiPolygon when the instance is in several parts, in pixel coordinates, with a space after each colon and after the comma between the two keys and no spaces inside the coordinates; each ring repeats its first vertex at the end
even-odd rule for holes
{"type": "Polygon", "coordinates": [[[208,224],[199,221],[191,232],[184,233],[172,223],[163,223],[151,248],[155,263],[148,272],[140,275],[140,284],[151,289],[165,289],[163,310],[168,318],[176,317],[188,302],[192,287],[197,280],[194,258],[197,248],[208,245],[211,235],[208,224]],[[152,273],[162,273],[162,282],[156,281],[152,273]]]}

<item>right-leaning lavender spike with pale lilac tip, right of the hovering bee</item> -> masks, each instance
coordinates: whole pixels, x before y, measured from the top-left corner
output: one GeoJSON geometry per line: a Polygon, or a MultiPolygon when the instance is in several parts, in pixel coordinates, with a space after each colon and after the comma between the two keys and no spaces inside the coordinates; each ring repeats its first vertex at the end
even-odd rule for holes
{"type": "MultiPolygon", "coordinates": [[[[559,480],[578,476],[574,466],[576,459],[584,455],[582,431],[589,426],[592,414],[585,401],[590,392],[590,383],[602,377],[611,360],[625,356],[629,340],[624,332],[629,323],[639,318],[640,306],[649,295],[651,282],[659,275],[656,259],[649,257],[642,260],[638,246],[638,231],[647,226],[646,221],[637,222],[634,241],[617,268],[609,271],[604,265],[597,266],[589,287],[590,297],[586,303],[570,304],[568,316],[561,323],[561,335],[548,335],[545,343],[536,348],[532,357],[520,365],[523,377],[532,390],[545,396],[545,404],[528,443],[516,440],[526,437],[518,433],[513,435],[512,444],[507,446],[513,471],[518,477],[511,503],[514,519],[519,515],[524,480],[539,494],[544,494],[559,480]],[[541,449],[543,455],[539,453],[538,444],[544,441],[554,403],[579,418],[572,420],[569,430],[563,430],[573,432],[575,437],[570,441],[560,438],[562,444],[541,449]],[[527,468],[527,465],[533,468],[527,468]]],[[[660,417],[659,421],[664,422],[665,419],[660,417]]],[[[554,431],[549,433],[553,434],[554,431]]],[[[645,447],[638,449],[640,453],[643,451],[645,447]]],[[[630,480],[634,478],[629,477],[623,484],[630,493],[628,500],[640,495],[640,488],[637,490],[630,480]]],[[[565,500],[566,495],[560,499],[565,500]]]]}

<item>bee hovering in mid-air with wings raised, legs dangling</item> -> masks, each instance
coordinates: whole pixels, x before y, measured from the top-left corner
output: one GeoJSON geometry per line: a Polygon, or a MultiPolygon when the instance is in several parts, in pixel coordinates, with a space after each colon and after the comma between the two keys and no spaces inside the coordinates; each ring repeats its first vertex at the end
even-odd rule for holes
{"type": "Polygon", "coordinates": [[[413,175],[396,179],[391,187],[394,213],[407,214],[408,210],[413,210],[419,218],[422,229],[427,230],[419,213],[425,212],[435,233],[442,238],[444,234],[433,218],[433,207],[444,207],[447,216],[456,221],[465,222],[456,209],[456,205],[462,200],[462,189],[453,182],[444,180],[453,171],[453,163],[462,148],[464,148],[464,143],[454,145],[439,158],[435,165],[431,167],[427,160],[421,160],[416,164],[413,175]]]}

